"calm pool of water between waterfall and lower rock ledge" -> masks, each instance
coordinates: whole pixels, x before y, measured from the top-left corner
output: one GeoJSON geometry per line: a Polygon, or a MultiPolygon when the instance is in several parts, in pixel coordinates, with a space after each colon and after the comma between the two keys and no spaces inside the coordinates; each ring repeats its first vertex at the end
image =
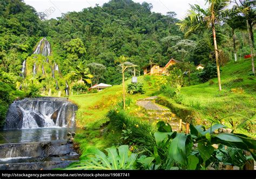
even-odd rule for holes
{"type": "Polygon", "coordinates": [[[78,128],[35,128],[0,130],[0,143],[42,142],[68,139],[68,133],[78,133],[78,128]]]}

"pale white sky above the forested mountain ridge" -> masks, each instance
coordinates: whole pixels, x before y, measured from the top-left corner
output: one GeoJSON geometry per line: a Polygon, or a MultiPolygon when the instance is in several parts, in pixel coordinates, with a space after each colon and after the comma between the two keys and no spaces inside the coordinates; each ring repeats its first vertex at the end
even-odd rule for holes
{"type": "MultiPolygon", "coordinates": [[[[204,0],[133,0],[138,3],[151,3],[152,11],[166,14],[166,12],[174,11],[177,18],[185,17],[189,4],[199,4],[205,6],[204,0]]],[[[45,12],[47,19],[60,17],[62,13],[72,11],[82,11],[84,8],[94,7],[95,4],[102,6],[109,0],[25,0],[26,4],[33,6],[37,12],[45,12]]]]}

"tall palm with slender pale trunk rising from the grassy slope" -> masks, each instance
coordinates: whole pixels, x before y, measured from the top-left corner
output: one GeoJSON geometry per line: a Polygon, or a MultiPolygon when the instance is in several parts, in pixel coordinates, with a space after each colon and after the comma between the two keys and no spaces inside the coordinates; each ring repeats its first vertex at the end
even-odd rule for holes
{"type": "Polygon", "coordinates": [[[220,23],[228,15],[227,6],[230,3],[229,0],[206,0],[209,3],[207,9],[200,8],[199,5],[191,5],[188,15],[185,19],[178,23],[180,29],[186,31],[185,35],[188,36],[195,31],[211,30],[214,43],[215,60],[217,66],[219,91],[221,91],[220,80],[220,65],[219,65],[219,51],[216,40],[215,26],[220,23]]]}

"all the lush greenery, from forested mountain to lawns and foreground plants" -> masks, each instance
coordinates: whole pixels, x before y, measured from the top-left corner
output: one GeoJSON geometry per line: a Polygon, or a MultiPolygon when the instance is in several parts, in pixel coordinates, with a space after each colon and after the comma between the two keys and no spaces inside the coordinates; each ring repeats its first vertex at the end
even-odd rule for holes
{"type": "Polygon", "coordinates": [[[82,156],[71,169],[218,169],[218,162],[243,168],[246,160],[255,160],[251,149],[256,148],[255,140],[247,137],[256,138],[254,61],[253,56],[242,58],[253,54],[255,10],[250,8],[252,2],[231,10],[229,1],[208,2],[206,10],[192,6],[183,20],[175,12],[161,15],[151,12],[151,4],[131,0],[111,0],[102,7],[46,20],[20,0],[4,0],[0,125],[15,98],[65,95],[70,90],[69,99],[78,105],[77,127],[85,129],[75,137],[82,156]],[[248,32],[231,25],[237,16],[241,24],[246,22],[248,32]],[[51,44],[48,57],[32,54],[43,37],[51,44]],[[137,65],[142,74],[142,66],[150,62],[164,66],[170,58],[183,63],[169,67],[167,76],[138,77],[137,84],[131,83],[133,68],[127,68],[124,111],[122,66],[137,65]],[[21,74],[24,60],[26,75],[21,74]],[[200,63],[205,68],[198,71],[200,63]],[[56,64],[59,73],[53,77],[56,64]],[[99,82],[114,86],[88,91],[99,82]],[[136,102],[156,95],[158,104],[190,123],[190,133],[146,120],[136,102]],[[226,127],[232,133],[217,133],[226,127]],[[106,153],[100,152],[105,148],[106,153]],[[252,155],[245,156],[242,150],[252,155]]]}

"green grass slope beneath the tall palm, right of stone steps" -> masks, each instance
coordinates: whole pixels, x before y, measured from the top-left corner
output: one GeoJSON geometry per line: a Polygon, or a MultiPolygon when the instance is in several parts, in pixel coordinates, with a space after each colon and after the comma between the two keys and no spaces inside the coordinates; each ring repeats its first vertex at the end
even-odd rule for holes
{"type": "MultiPolygon", "coordinates": [[[[180,92],[184,97],[182,105],[199,112],[199,123],[205,119],[221,121],[230,128],[232,128],[230,124],[232,121],[237,125],[245,119],[250,119],[255,123],[256,78],[248,75],[251,72],[251,60],[230,62],[221,70],[223,91],[218,91],[217,78],[212,80],[213,85],[205,82],[200,85],[183,87],[180,92]]],[[[172,99],[169,101],[174,102],[172,99]]],[[[243,128],[235,132],[245,133],[255,138],[255,125],[247,122],[246,126],[250,133],[243,128]]]]}

